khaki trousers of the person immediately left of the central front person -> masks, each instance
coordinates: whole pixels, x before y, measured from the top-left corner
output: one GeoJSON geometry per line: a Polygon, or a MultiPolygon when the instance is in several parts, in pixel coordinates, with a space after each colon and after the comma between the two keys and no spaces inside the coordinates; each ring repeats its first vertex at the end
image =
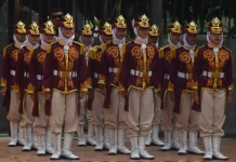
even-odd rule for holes
{"type": "Polygon", "coordinates": [[[117,87],[112,87],[110,107],[104,108],[105,126],[107,129],[126,130],[127,111],[124,110],[124,99],[117,87]]]}

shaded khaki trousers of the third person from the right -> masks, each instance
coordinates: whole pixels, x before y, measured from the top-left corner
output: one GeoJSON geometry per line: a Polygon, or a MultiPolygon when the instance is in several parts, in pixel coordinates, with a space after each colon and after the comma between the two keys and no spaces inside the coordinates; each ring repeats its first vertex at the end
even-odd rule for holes
{"type": "Polygon", "coordinates": [[[161,126],[162,126],[162,130],[165,131],[176,130],[175,127],[176,117],[175,117],[175,113],[173,112],[174,100],[171,98],[171,93],[173,92],[167,92],[165,106],[162,109],[161,126]]]}

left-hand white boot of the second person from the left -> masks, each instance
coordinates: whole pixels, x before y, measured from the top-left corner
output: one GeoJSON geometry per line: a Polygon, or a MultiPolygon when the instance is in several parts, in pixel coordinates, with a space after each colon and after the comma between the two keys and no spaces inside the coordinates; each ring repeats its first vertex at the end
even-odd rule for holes
{"type": "Polygon", "coordinates": [[[24,127],[25,145],[22,151],[30,151],[32,148],[32,127],[24,127]]]}

